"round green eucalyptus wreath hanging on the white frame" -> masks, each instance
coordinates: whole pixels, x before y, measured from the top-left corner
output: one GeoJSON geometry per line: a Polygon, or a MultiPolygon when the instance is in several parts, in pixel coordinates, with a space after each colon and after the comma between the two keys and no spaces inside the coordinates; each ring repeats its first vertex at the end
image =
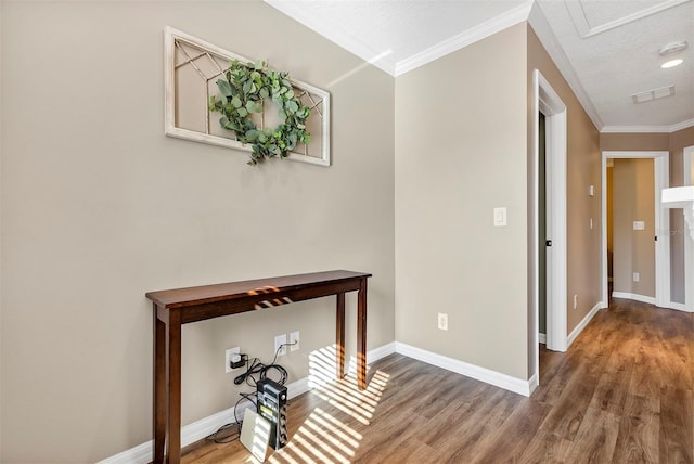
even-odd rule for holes
{"type": "Polygon", "coordinates": [[[252,166],[266,157],[286,157],[297,143],[308,144],[311,134],[306,131],[306,120],[310,108],[294,93],[288,73],[268,69],[265,62],[230,62],[224,78],[217,80],[221,98],[210,96],[209,109],[222,114],[219,124],[233,130],[236,140],[244,145],[250,143],[252,166]],[[267,99],[280,108],[281,123],[274,129],[258,129],[253,121],[253,113],[262,113],[267,99]]]}

